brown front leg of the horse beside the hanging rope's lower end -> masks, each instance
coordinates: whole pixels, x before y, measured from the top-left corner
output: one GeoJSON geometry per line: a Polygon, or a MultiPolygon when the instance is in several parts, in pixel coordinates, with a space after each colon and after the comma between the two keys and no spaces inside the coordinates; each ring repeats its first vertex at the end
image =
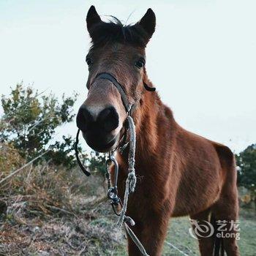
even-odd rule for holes
{"type": "MultiPolygon", "coordinates": [[[[151,217],[143,219],[142,222],[136,223],[132,227],[132,231],[143,244],[146,252],[150,256],[160,256],[162,246],[165,241],[169,217],[164,214],[151,214],[151,217]]],[[[127,235],[128,236],[128,235],[127,235]]],[[[128,252],[129,256],[140,256],[140,250],[128,236],[128,252]]]]}

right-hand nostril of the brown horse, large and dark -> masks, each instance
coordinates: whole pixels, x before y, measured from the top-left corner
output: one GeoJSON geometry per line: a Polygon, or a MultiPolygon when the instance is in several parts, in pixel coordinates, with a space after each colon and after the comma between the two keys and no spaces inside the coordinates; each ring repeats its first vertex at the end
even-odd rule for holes
{"type": "Polygon", "coordinates": [[[116,129],[119,124],[118,113],[116,112],[116,108],[109,107],[105,108],[99,113],[97,118],[97,122],[104,127],[107,132],[113,131],[116,129]]]}

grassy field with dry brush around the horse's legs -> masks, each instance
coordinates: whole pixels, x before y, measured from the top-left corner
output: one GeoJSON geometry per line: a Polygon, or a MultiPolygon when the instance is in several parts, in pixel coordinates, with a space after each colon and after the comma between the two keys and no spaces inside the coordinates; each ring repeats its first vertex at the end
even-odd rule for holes
{"type": "MultiPolygon", "coordinates": [[[[24,170],[1,190],[0,255],[127,255],[105,185],[78,170],[24,170]]],[[[241,255],[254,256],[255,211],[241,210],[240,221],[241,255]]],[[[163,255],[199,255],[189,227],[187,217],[172,219],[163,255]]]]}

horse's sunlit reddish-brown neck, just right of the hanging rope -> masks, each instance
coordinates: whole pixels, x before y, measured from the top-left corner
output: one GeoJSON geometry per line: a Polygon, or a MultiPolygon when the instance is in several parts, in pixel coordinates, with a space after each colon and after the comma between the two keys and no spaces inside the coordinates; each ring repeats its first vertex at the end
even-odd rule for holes
{"type": "MultiPolygon", "coordinates": [[[[162,135],[169,133],[172,140],[176,122],[170,108],[167,108],[159,98],[157,92],[146,91],[134,113],[136,127],[135,162],[148,162],[159,157],[162,135]]],[[[122,162],[127,162],[128,150],[120,156],[122,162]]]]}

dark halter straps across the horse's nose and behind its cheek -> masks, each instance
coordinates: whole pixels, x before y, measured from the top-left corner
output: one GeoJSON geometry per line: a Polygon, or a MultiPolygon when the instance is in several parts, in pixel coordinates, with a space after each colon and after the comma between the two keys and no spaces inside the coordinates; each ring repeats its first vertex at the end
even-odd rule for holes
{"type": "MultiPolygon", "coordinates": [[[[122,86],[121,83],[118,83],[118,80],[116,80],[116,78],[113,77],[113,75],[111,75],[110,73],[106,73],[106,72],[99,73],[95,79],[97,78],[109,80],[111,83],[113,83],[114,86],[116,86],[116,89],[118,89],[119,94],[121,95],[121,100],[124,104],[125,110],[127,111],[127,113],[131,113],[131,111],[134,109],[133,108],[134,105],[129,103],[124,86],[122,86]]],[[[143,86],[147,91],[156,91],[154,87],[148,86],[144,81],[143,81],[143,86]]]]}

